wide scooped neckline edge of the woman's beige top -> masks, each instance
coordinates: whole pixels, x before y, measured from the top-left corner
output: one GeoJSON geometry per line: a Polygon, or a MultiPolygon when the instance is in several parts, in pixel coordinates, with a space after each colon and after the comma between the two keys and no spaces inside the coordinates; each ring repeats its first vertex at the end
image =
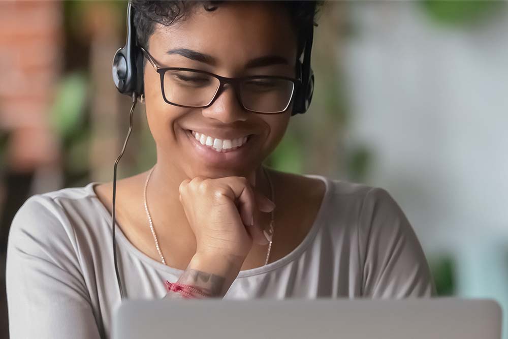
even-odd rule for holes
{"type": "MultiPolygon", "coordinates": [[[[322,175],[303,174],[303,176],[306,176],[309,178],[321,179],[325,183],[325,194],[324,194],[323,199],[321,201],[320,208],[317,211],[314,222],[313,222],[312,226],[310,227],[310,230],[308,231],[307,235],[304,237],[302,242],[300,242],[300,244],[298,244],[298,246],[296,246],[296,248],[293,249],[293,251],[291,251],[289,254],[287,254],[284,257],[277,259],[267,265],[256,267],[256,268],[250,268],[250,269],[246,269],[246,270],[241,270],[238,273],[237,278],[244,278],[247,276],[266,273],[266,272],[275,270],[281,266],[288,264],[289,262],[295,260],[301,253],[303,253],[303,251],[305,251],[305,249],[307,249],[308,245],[314,239],[317,231],[321,228],[322,224],[325,221],[324,220],[324,213],[325,213],[326,207],[329,203],[330,196],[332,195],[331,183],[330,183],[329,178],[322,176],[322,175]]],[[[96,200],[96,203],[99,205],[99,209],[103,213],[105,219],[108,221],[108,225],[110,225],[110,227],[111,227],[113,217],[109,213],[109,210],[106,208],[106,206],[104,206],[102,201],[99,199],[96,192],[93,190],[93,186],[96,186],[101,183],[102,182],[97,182],[97,181],[90,182],[89,184],[86,185],[85,190],[89,193],[90,196],[92,196],[96,200]]],[[[176,276],[180,276],[181,273],[183,273],[183,270],[165,265],[162,262],[156,261],[156,260],[150,258],[149,256],[147,256],[146,254],[144,254],[143,252],[141,252],[123,234],[123,232],[120,229],[120,227],[118,226],[118,224],[116,224],[115,233],[116,233],[116,239],[118,240],[117,242],[123,244],[127,250],[129,250],[131,253],[136,255],[140,260],[144,261],[148,265],[153,266],[154,268],[156,268],[158,270],[163,270],[168,273],[174,274],[176,276]]]]}

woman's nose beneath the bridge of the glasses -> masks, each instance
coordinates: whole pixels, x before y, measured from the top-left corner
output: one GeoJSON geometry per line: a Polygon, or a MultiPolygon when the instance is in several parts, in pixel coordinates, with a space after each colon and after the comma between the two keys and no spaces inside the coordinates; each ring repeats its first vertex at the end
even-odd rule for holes
{"type": "Polygon", "coordinates": [[[224,124],[231,124],[235,121],[247,120],[249,113],[238,102],[233,86],[225,84],[223,88],[219,88],[213,104],[202,109],[202,114],[224,124]]]}

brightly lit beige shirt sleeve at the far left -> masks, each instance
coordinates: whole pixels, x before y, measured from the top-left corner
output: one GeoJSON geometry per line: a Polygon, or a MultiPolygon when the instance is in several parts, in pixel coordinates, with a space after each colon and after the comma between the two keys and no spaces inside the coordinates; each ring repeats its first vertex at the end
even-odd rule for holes
{"type": "Polygon", "coordinates": [[[100,338],[78,258],[65,211],[50,197],[29,198],[9,232],[6,289],[11,339],[100,338]]]}

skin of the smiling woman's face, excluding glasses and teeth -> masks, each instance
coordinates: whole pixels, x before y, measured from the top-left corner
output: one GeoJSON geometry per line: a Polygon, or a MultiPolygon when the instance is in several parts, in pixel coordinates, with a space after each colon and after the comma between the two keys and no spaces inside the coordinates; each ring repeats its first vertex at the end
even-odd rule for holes
{"type": "MultiPolygon", "coordinates": [[[[296,35],[287,10],[271,3],[226,2],[213,12],[197,5],[184,21],[169,27],[156,24],[148,50],[161,67],[192,68],[224,77],[295,77],[296,35]],[[192,52],[168,53],[176,49],[192,52]],[[259,62],[253,63],[256,59],[259,62]]],[[[210,107],[170,105],[163,99],[160,75],[149,63],[144,81],[157,161],[176,166],[190,178],[247,175],[277,146],[291,116],[292,105],[279,114],[246,111],[230,85],[210,107]],[[247,141],[235,150],[219,152],[202,145],[191,131],[221,140],[247,136],[247,141]]]]}

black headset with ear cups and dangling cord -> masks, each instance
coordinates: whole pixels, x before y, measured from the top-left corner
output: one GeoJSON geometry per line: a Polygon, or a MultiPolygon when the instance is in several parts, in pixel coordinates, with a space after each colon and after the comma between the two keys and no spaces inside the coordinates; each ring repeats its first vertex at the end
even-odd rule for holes
{"type": "MultiPolygon", "coordinates": [[[[300,80],[300,85],[297,87],[293,102],[293,111],[291,115],[305,113],[312,101],[312,94],[314,91],[314,72],[310,67],[310,54],[312,50],[312,41],[314,37],[314,24],[310,25],[309,35],[306,37],[303,62],[300,60],[300,56],[296,61],[296,75],[300,80]]],[[[134,8],[129,2],[127,6],[127,41],[125,46],[119,48],[113,58],[113,82],[116,88],[121,94],[130,96],[132,98],[132,106],[129,113],[129,131],[127,137],[123,143],[120,155],[115,161],[113,170],[113,215],[112,215],[112,229],[113,229],[113,260],[115,264],[116,280],[118,282],[118,290],[120,292],[121,300],[124,299],[125,294],[123,286],[120,280],[120,274],[118,271],[117,264],[117,253],[116,253],[116,238],[115,238],[115,202],[116,202],[116,168],[120,158],[125,152],[127,141],[132,131],[133,112],[136,107],[138,98],[144,96],[143,88],[143,54],[141,49],[136,44],[136,31],[134,27],[134,8]]]]}

